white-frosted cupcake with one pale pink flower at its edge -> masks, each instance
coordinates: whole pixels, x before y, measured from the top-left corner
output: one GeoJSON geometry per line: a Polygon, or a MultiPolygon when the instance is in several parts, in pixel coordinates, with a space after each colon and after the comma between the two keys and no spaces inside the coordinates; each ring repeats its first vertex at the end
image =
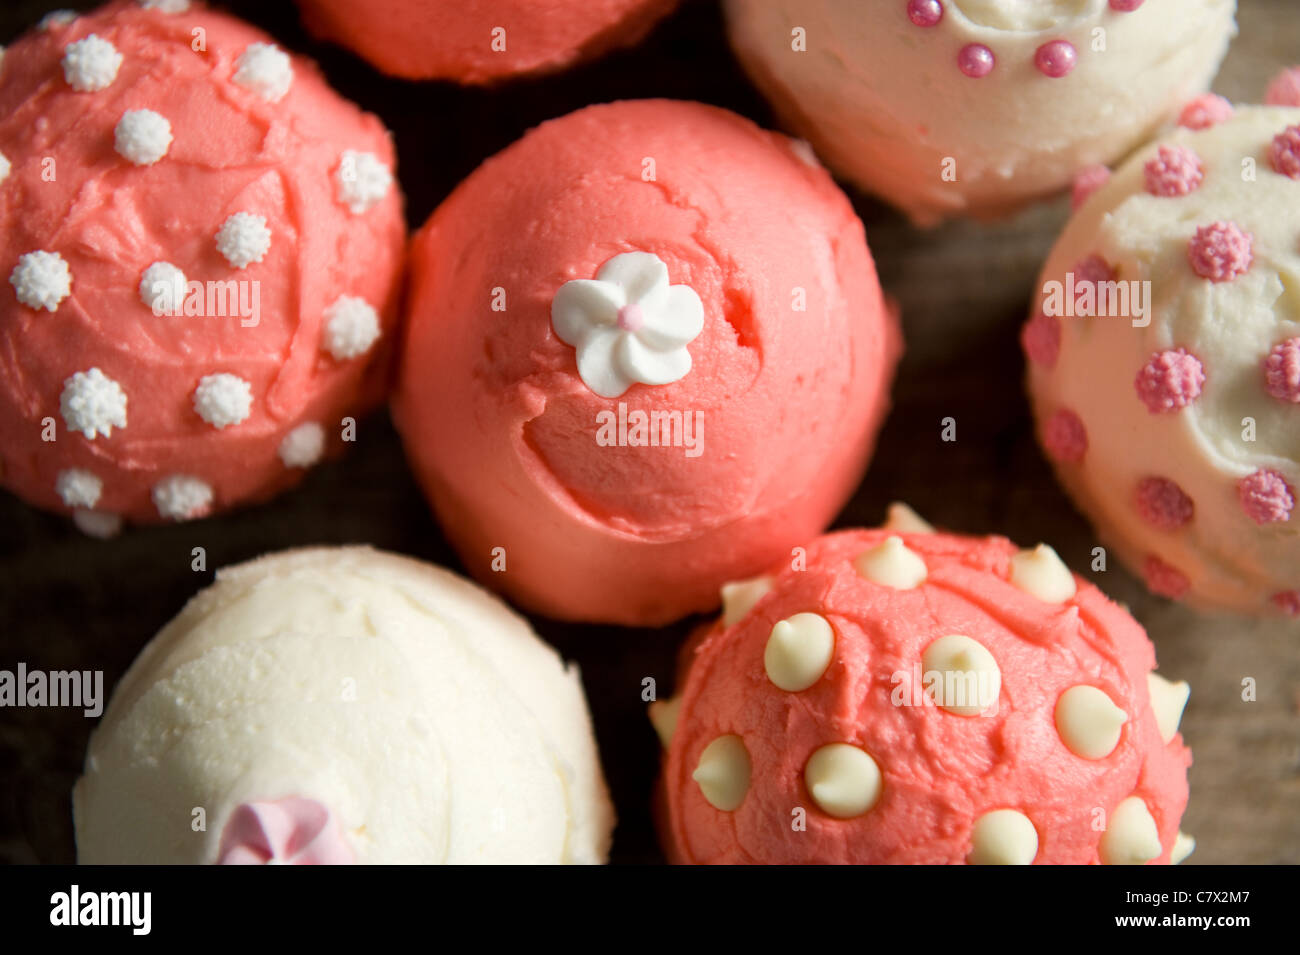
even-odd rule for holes
{"type": "Polygon", "coordinates": [[[599,863],[578,674],[499,600],[365,547],[226,568],[118,683],[81,863],[599,863]]]}

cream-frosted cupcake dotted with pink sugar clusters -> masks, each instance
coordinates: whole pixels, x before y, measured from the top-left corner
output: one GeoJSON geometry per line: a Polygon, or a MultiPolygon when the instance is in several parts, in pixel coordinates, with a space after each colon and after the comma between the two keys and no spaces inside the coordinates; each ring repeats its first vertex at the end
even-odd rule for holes
{"type": "Polygon", "coordinates": [[[1040,279],[1039,437],[1102,542],[1156,594],[1300,615],[1300,109],[1192,101],[1040,279]]]}

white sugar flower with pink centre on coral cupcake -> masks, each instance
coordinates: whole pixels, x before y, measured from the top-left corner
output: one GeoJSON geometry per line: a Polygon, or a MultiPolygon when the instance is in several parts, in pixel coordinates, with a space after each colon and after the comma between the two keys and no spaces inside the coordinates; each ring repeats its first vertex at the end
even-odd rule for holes
{"type": "Polygon", "coordinates": [[[668,266],[650,252],[624,252],[594,279],[566,282],[551,300],[551,325],[577,350],[577,373],[601,398],[637,382],[668,385],[690,372],[686,346],[705,327],[696,290],[668,285],[668,266]]]}

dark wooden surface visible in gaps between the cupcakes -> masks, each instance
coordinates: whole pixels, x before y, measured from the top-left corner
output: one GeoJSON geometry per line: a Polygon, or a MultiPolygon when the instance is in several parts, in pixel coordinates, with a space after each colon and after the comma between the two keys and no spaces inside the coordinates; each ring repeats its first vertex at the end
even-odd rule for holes
{"type": "MultiPolygon", "coordinates": [[[[94,5],[4,0],[0,44],[49,9],[94,5]]],[[[341,94],[382,117],[396,139],[411,226],[526,129],[589,103],[694,99],[776,125],[736,65],[712,0],[685,0],[636,49],[493,90],[386,78],[311,39],[289,0],[214,5],[316,58],[341,94]]],[[[1280,66],[1300,62],[1300,6],[1240,0],[1239,8],[1242,35],[1216,90],[1258,101],[1280,66]]],[[[1046,541],[1084,570],[1096,541],[1034,442],[1017,342],[1067,204],[1043,204],[993,226],[918,231],[879,203],[849,194],[881,281],[902,304],[907,352],[871,469],[837,526],[879,524],[885,505],[904,499],[953,530],[1001,533],[1022,544],[1046,541]],[[940,440],[945,416],[958,421],[954,443],[940,440]]],[[[0,669],[20,660],[39,669],[103,669],[107,690],[211,582],[213,569],[272,550],[354,542],[459,569],[384,413],[361,424],[343,460],[313,469],[299,490],[270,504],[127,529],[108,542],[0,491],[0,669]],[[196,546],[207,548],[207,573],[190,569],[196,546]]],[[[1192,683],[1183,734],[1196,763],[1183,829],[1199,846],[1190,861],[1300,863],[1300,625],[1196,615],[1150,596],[1118,565],[1091,577],[1148,628],[1161,672],[1192,683]],[[1253,703],[1240,699],[1245,677],[1257,682],[1253,703]]],[[[627,630],[534,620],[538,633],[582,668],[619,812],[616,863],[663,860],[649,812],[658,742],[640,690],[647,676],[660,690],[671,686],[676,648],[693,622],[627,630]]],[[[92,725],[81,711],[0,709],[0,861],[74,860],[70,791],[92,725]]]]}

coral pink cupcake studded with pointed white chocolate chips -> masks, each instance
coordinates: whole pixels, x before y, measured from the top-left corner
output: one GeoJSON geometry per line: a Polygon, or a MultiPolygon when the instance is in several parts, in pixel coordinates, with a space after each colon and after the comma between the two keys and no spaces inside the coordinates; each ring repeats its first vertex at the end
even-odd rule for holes
{"type": "Polygon", "coordinates": [[[1180,861],[1187,685],[1050,547],[920,526],[724,591],[651,707],[670,858],[1180,861]]]}

